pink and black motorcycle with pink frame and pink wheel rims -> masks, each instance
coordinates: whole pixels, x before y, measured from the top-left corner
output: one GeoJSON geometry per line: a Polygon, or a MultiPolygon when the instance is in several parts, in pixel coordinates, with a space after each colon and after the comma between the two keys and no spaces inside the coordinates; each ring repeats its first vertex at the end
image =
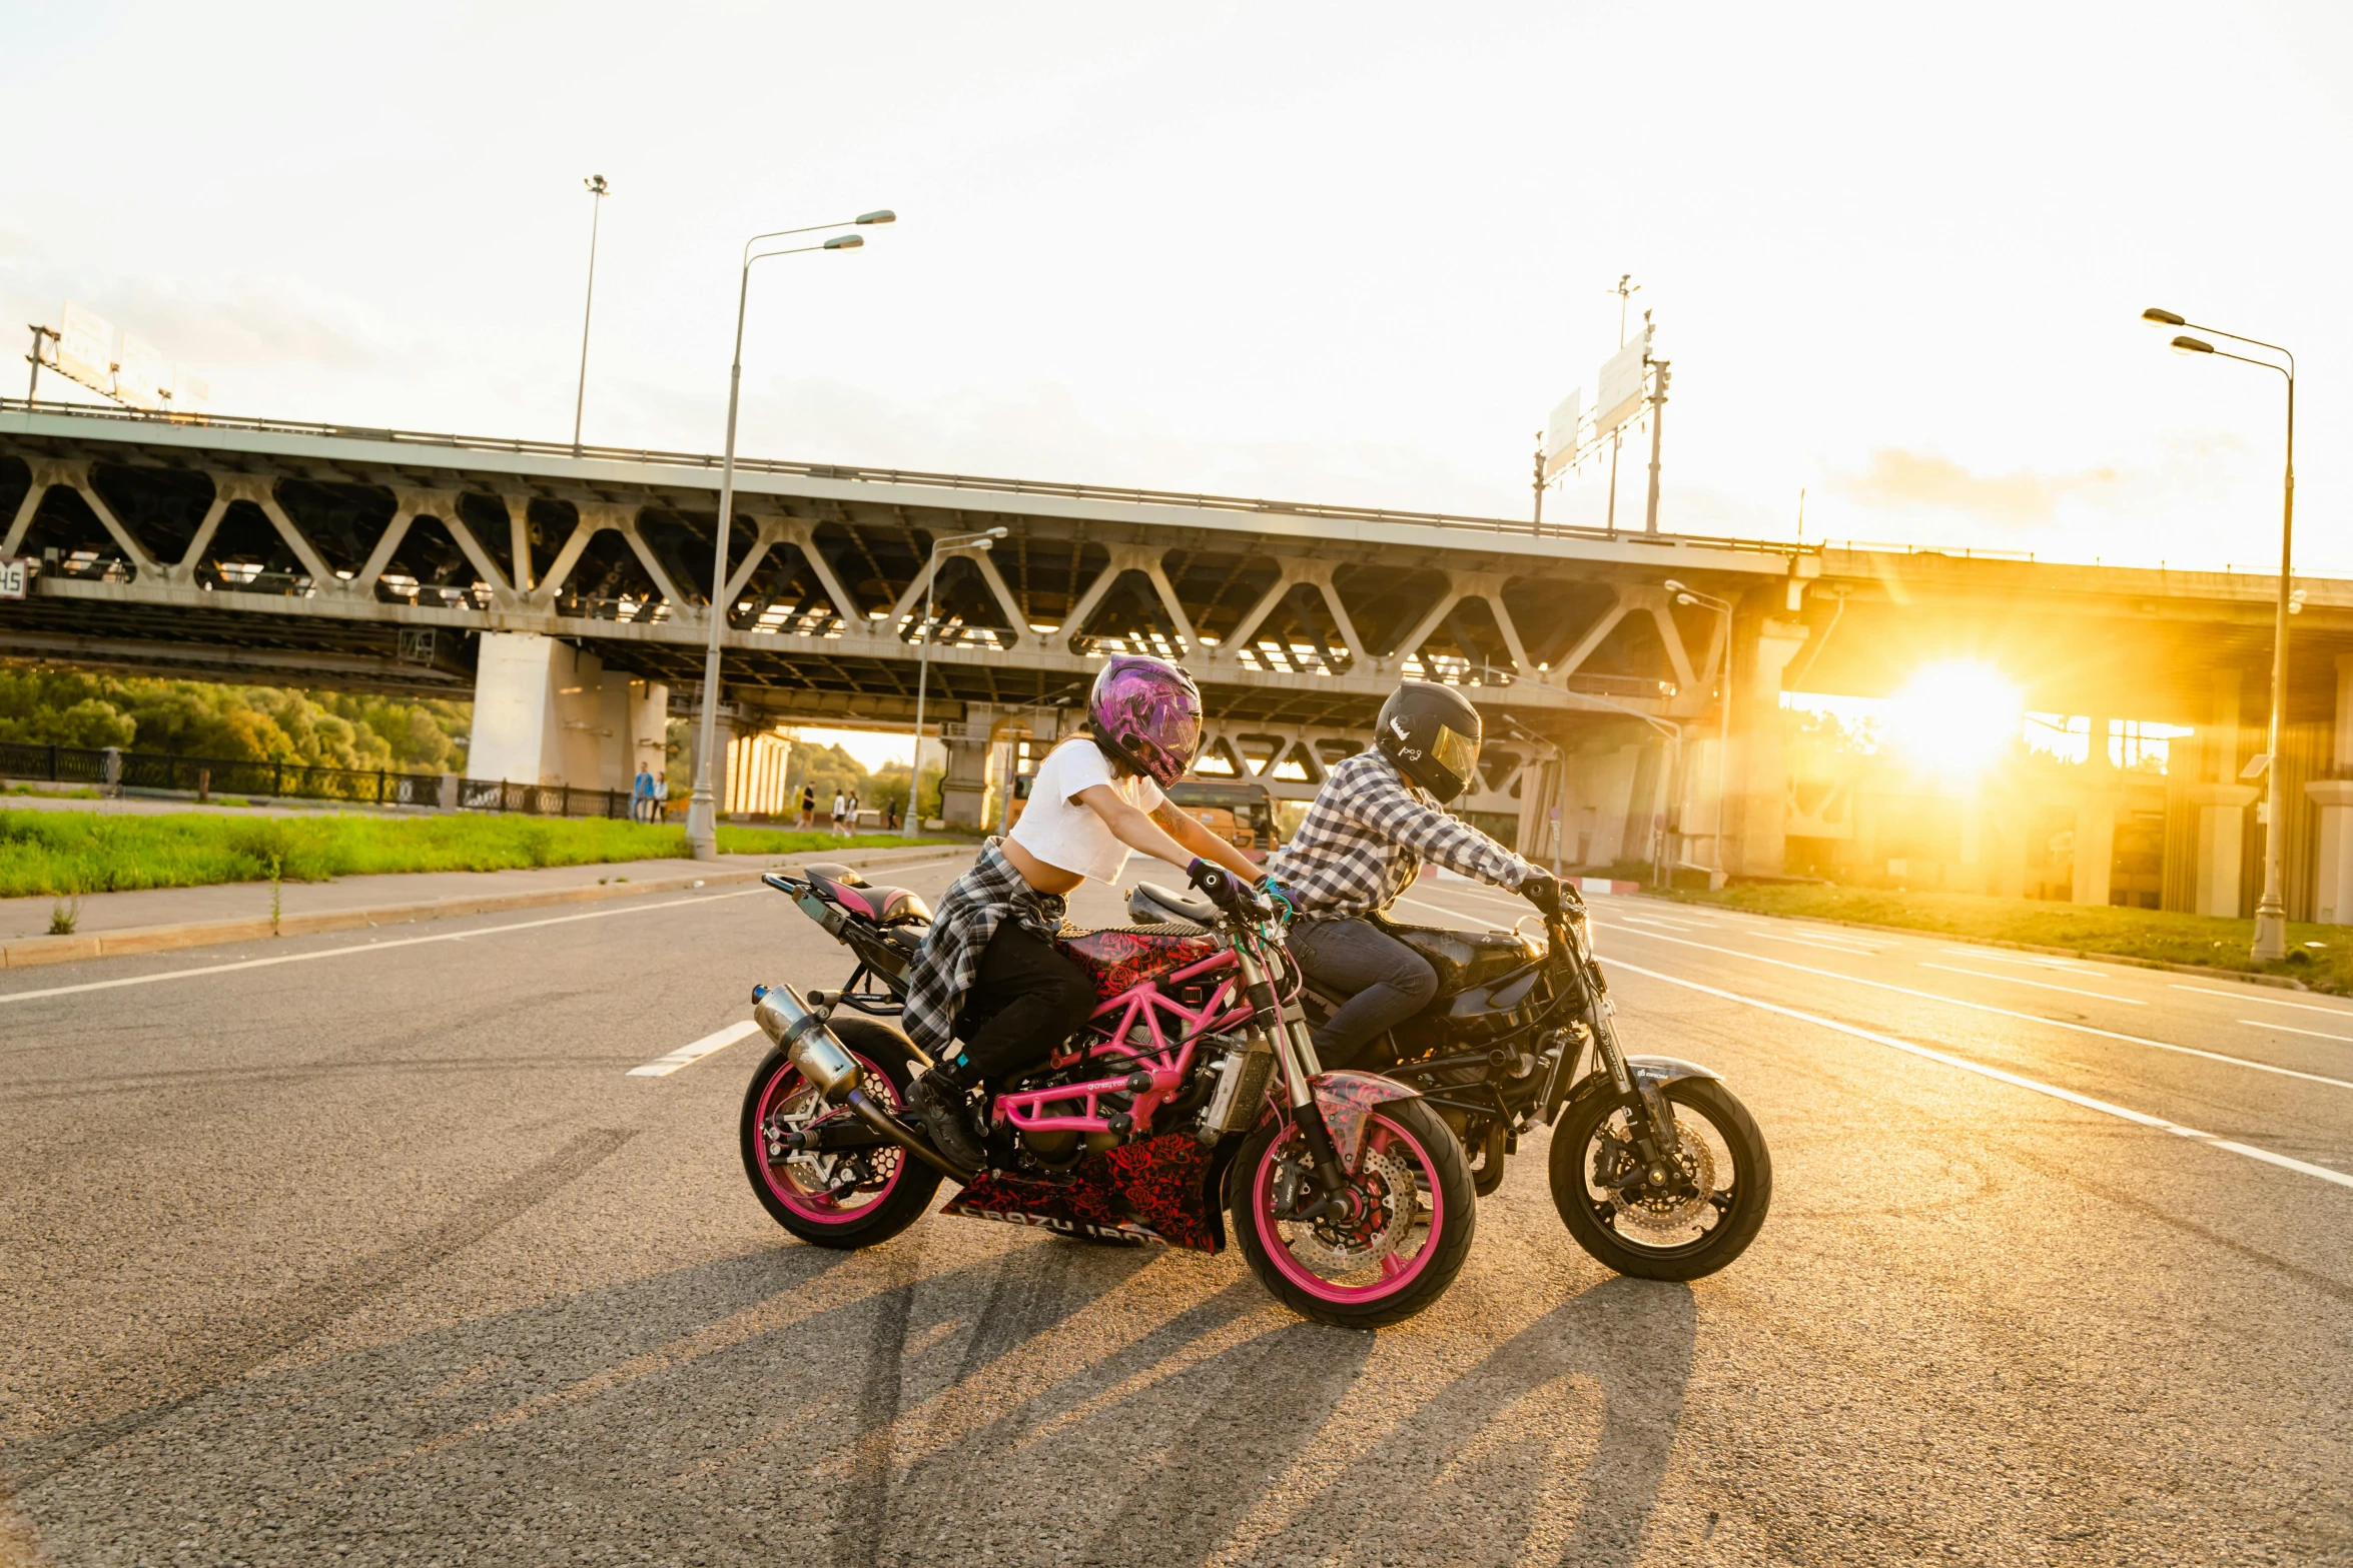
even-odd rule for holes
{"type": "Polygon", "coordinates": [[[1078,1239],[1226,1246],[1301,1316],[1402,1321],[1461,1272],[1478,1222],[1468,1159],[1419,1091],[1322,1072],[1282,912],[1249,893],[1214,924],[1066,931],[1094,1018],[998,1084],[988,1168],[965,1171],[901,1119],[929,1058],[892,1023],[929,907],[840,865],[767,875],[856,957],[842,990],[753,990],[774,1048],[744,1095],[744,1171],[802,1241],[859,1248],[944,1213],[1078,1239]]]}

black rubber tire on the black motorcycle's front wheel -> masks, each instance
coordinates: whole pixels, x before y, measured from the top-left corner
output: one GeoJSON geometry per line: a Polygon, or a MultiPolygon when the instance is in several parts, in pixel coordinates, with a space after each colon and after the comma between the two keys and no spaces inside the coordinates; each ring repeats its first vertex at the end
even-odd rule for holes
{"type": "Polygon", "coordinates": [[[1560,1126],[1553,1128],[1553,1208],[1560,1211],[1560,1222],[1577,1237],[1577,1246],[1619,1274],[1633,1274],[1635,1279],[1699,1279],[1725,1267],[1755,1241],[1758,1229],[1765,1225],[1765,1211],[1772,1208],[1772,1152],[1765,1147],[1765,1133],[1758,1131],[1755,1117],[1720,1081],[1680,1079],[1661,1093],[1675,1110],[1675,1126],[1682,1131],[1685,1147],[1699,1133],[1697,1121],[1706,1121],[1715,1131],[1715,1138],[1708,1140],[1711,1164],[1722,1164],[1729,1157],[1729,1182],[1722,1171],[1715,1171],[1715,1180],[1711,1182],[1715,1194],[1708,1201],[1708,1208],[1715,1213],[1713,1222],[1704,1213],[1694,1215],[1692,1229],[1697,1234],[1692,1237],[1682,1237],[1680,1229],[1661,1229],[1645,1237],[1633,1225],[1624,1232],[1619,1229],[1617,1206],[1588,1180],[1595,1143],[1621,1112],[1607,1098],[1572,1107],[1560,1119],[1560,1126]],[[1715,1152],[1715,1143],[1722,1145],[1722,1154],[1715,1152]]]}

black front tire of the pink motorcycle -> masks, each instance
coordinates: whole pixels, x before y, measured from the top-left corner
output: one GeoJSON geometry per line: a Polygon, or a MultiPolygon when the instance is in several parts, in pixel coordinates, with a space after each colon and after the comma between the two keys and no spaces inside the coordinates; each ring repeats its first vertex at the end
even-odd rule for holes
{"type": "MultiPolygon", "coordinates": [[[[1471,1255],[1471,1237],[1478,1232],[1478,1197],[1471,1192],[1471,1161],[1464,1157],[1464,1145],[1457,1143],[1445,1117],[1421,1100],[1384,1100],[1367,1117],[1367,1154],[1374,1138],[1381,1135],[1384,1121],[1391,1135],[1402,1133],[1409,1140],[1409,1145],[1400,1145],[1393,1138],[1391,1147],[1417,1150],[1424,1157],[1412,1161],[1409,1152],[1400,1154],[1421,1166],[1417,1185],[1426,1185],[1426,1199],[1419,1213],[1435,1220],[1435,1229],[1424,1234],[1421,1248],[1417,1248],[1412,1265],[1407,1265],[1407,1272],[1395,1284],[1384,1279],[1365,1286],[1344,1286],[1327,1279],[1322,1281],[1322,1293],[1304,1284],[1315,1272],[1292,1253],[1292,1244],[1275,1227],[1268,1187],[1268,1154],[1278,1143],[1294,1138],[1289,1121],[1259,1124],[1242,1140],[1242,1150],[1226,1173],[1226,1197],[1233,1211],[1233,1232],[1242,1246],[1242,1262],[1249,1265],[1249,1272],[1259,1276],[1259,1284],[1275,1300],[1299,1316],[1339,1328],[1402,1324],[1445,1295],[1471,1255]],[[1275,1258],[1275,1248],[1282,1253],[1280,1260],[1275,1258]],[[1334,1293],[1341,1291],[1348,1293],[1348,1300],[1334,1300],[1334,1293]]],[[[1360,1164],[1360,1178],[1362,1173],[1365,1166],[1360,1164]]],[[[1421,1225],[1419,1218],[1407,1222],[1405,1241],[1412,1239],[1417,1225],[1421,1225]]]]}

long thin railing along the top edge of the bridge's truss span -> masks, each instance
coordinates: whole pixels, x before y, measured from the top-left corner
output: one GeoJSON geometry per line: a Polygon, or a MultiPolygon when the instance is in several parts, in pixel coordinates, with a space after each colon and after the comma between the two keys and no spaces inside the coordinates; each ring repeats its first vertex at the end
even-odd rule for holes
{"type": "MultiPolygon", "coordinates": [[[[445,447],[449,451],[501,451],[548,458],[593,458],[619,463],[659,463],[664,468],[720,468],[713,451],[664,451],[659,447],[579,447],[572,442],[532,442],[489,435],[435,435],[424,430],[384,430],[374,425],[325,425],[299,418],[221,418],[212,414],[146,414],[141,409],[94,409],[85,404],[28,404],[24,397],[0,397],[0,414],[40,414],[89,418],[104,423],[245,430],[259,435],[318,435],[351,442],[388,442],[395,447],[445,447]]],[[[1059,501],[1122,501],[1129,505],[1184,505],[1205,512],[1268,512],[1285,517],[1325,517],[1337,522],[1407,522],[1433,529],[1475,529],[1480,534],[1527,534],[1534,538],[1593,538],[1661,550],[1746,550],[1755,555],[1819,555],[1819,543],[1774,538],[1725,538],[1715,534],[1628,534],[1624,529],[1537,527],[1513,517],[1468,517],[1461,512],[1393,512],[1377,505],[1322,505],[1315,501],[1264,501],[1252,496],[1207,496],[1176,489],[1132,489],[1120,484],[1064,484],[1047,480],[991,480],[981,475],[925,473],[913,468],[859,468],[854,463],[788,463],[781,458],[736,456],[736,473],[786,475],[795,480],[847,480],[854,484],[913,484],[925,489],[998,491],[1007,496],[1047,496],[1059,501]]]]}

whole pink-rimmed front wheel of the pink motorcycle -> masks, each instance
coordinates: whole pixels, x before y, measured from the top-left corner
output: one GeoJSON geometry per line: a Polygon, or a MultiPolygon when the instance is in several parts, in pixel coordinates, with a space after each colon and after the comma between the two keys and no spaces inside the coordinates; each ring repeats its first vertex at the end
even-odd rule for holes
{"type": "Polygon", "coordinates": [[[1242,1140],[1228,1192],[1242,1262],[1299,1316],[1339,1328],[1381,1328],[1414,1316],[1454,1284],[1471,1255],[1478,1199],[1471,1161],[1445,1119],[1421,1100],[1386,1100],[1365,1117],[1365,1152],[1348,1180],[1353,1213],[1278,1220],[1285,1182],[1304,1178],[1306,1140],[1289,1119],[1242,1140]]]}

